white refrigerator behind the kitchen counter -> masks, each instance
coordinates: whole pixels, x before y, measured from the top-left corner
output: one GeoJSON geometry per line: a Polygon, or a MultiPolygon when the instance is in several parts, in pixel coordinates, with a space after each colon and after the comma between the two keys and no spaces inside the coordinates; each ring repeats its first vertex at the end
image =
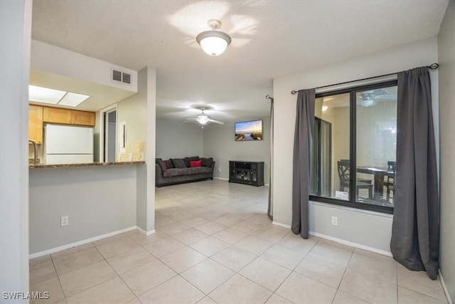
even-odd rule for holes
{"type": "Polygon", "coordinates": [[[93,128],[45,125],[44,164],[93,162],[93,128]]]}

